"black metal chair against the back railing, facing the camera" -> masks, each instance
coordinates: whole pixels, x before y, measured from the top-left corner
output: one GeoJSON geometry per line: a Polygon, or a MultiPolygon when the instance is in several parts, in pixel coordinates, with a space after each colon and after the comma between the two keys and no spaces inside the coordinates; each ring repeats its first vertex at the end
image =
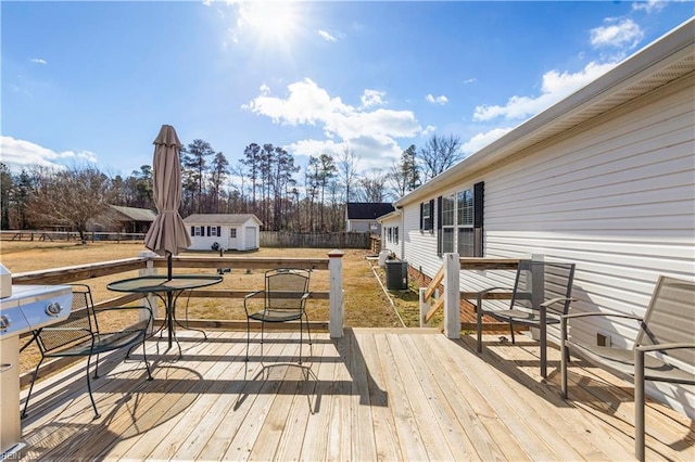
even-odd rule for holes
{"type": "MultiPolygon", "coordinates": [[[[266,322],[300,322],[300,360],[302,363],[302,343],[306,323],[308,345],[312,345],[312,333],[306,315],[306,299],[309,296],[308,281],[311,273],[298,269],[274,269],[265,273],[265,290],[252,292],[243,299],[247,311],[247,361],[249,361],[249,344],[251,341],[251,320],[261,322],[261,356],[263,356],[263,336],[266,322]],[[263,307],[254,307],[254,298],[263,296],[263,307]]],[[[258,304],[260,305],[260,304],[258,304]]]]}

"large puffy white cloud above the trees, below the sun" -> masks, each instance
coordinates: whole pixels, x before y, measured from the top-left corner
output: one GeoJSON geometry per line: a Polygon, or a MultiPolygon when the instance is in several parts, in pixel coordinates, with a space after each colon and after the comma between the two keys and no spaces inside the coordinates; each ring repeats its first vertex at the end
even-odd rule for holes
{"type": "Polygon", "coordinates": [[[269,117],[275,124],[321,128],[326,139],[296,142],[292,149],[300,150],[298,153],[311,155],[314,152],[312,146],[319,146],[324,152],[338,146],[338,152],[341,152],[341,143],[346,142],[361,157],[390,156],[393,152],[400,155],[402,150],[397,147],[395,139],[413,138],[421,130],[410,111],[382,107],[368,111],[367,106],[382,102],[383,93],[376,90],[365,90],[361,97],[362,107],[354,107],[343,103],[339,97],[331,97],[308,78],[290,84],[288,91],[285,99],[271,97],[269,91],[262,92],[242,108],[269,117]],[[361,152],[361,149],[365,151],[361,152]]]}

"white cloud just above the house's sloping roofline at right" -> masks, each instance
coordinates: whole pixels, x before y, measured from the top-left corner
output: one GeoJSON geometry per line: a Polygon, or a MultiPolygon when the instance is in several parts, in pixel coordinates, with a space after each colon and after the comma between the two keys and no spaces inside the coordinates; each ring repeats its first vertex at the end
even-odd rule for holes
{"type": "Polygon", "coordinates": [[[543,85],[539,97],[511,97],[505,105],[481,105],[473,112],[473,120],[491,120],[496,117],[521,119],[540,113],[579,88],[595,80],[616,66],[616,63],[589,63],[578,73],[551,70],[543,75],[543,85]]]}

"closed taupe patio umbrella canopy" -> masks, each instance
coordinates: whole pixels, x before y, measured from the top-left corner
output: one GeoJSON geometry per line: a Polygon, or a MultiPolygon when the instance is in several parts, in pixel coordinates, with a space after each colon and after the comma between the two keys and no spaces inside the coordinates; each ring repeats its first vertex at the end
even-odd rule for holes
{"type": "Polygon", "coordinates": [[[186,224],[178,213],[181,203],[181,142],[170,125],[163,125],[154,140],[154,204],[157,215],[144,236],[144,246],[159,255],[178,255],[191,245],[186,224]]]}

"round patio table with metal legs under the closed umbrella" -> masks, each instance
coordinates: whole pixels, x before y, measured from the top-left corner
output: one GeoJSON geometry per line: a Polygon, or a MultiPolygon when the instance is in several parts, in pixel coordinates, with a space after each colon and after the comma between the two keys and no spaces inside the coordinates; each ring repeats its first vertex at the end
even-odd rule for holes
{"type": "Polygon", "coordinates": [[[167,350],[172,348],[173,341],[176,341],[179,357],[181,357],[181,345],[179,344],[178,338],[176,338],[175,330],[175,324],[181,325],[176,320],[176,301],[178,300],[178,297],[185,291],[218,284],[222,281],[223,278],[220,275],[205,274],[174,274],[172,278],[166,275],[142,275],[114,281],[108,284],[106,288],[114,292],[152,294],[159,297],[164,303],[165,308],[164,323],[160,328],[160,331],[164,329],[167,331],[167,350]]]}

